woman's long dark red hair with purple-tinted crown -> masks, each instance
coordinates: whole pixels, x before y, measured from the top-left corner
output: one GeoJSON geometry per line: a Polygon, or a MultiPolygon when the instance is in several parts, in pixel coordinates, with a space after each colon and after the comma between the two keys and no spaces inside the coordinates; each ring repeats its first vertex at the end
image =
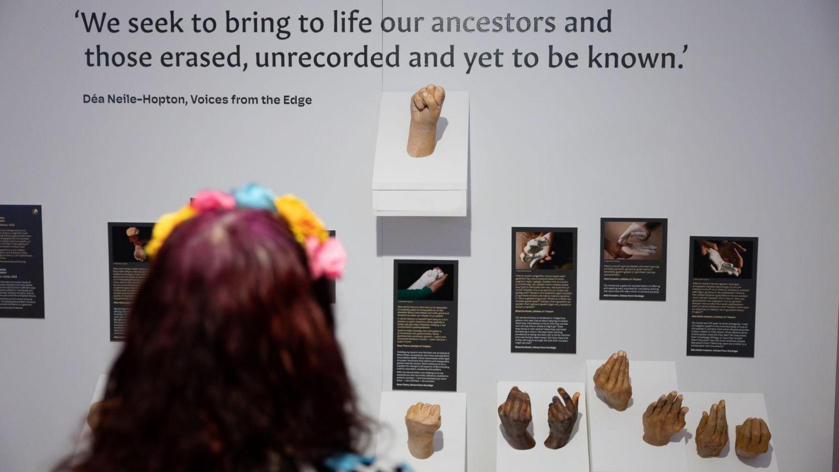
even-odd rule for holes
{"type": "Polygon", "coordinates": [[[261,472],[354,452],[367,427],[326,281],[262,210],[171,233],[138,291],[76,472],[261,472]]]}

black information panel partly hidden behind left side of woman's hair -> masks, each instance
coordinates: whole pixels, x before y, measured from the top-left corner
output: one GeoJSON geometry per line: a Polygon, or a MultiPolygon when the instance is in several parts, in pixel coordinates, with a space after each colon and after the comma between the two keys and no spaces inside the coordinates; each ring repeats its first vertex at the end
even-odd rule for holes
{"type": "Polygon", "coordinates": [[[134,295],[149,272],[143,246],[151,239],[152,228],[154,223],[107,223],[112,341],[125,339],[134,295]]]}

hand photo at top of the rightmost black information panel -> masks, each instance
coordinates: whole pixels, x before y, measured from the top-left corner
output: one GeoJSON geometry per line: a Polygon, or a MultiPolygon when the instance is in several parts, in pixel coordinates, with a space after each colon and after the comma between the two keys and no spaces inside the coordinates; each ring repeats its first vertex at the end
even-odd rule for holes
{"type": "Polygon", "coordinates": [[[749,277],[744,272],[750,262],[748,241],[696,239],[694,249],[701,257],[694,263],[695,277],[749,277]]]}

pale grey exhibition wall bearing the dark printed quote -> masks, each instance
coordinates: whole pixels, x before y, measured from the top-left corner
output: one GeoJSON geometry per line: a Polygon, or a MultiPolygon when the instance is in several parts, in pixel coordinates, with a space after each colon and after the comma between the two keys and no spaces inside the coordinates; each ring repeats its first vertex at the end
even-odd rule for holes
{"type": "MultiPolygon", "coordinates": [[[[346,2],[248,3],[320,14],[346,2]]],[[[459,390],[467,466],[494,469],[497,380],[583,380],[585,360],[617,349],[672,359],[685,391],[763,392],[784,470],[827,470],[833,450],[839,286],[839,4],[832,0],[384,3],[374,18],[600,15],[610,34],[85,34],[76,8],[134,16],[227,3],[103,0],[0,3],[0,203],[44,215],[46,318],[0,319],[0,470],[49,469],[73,439],[108,342],[107,222],[153,221],[195,190],[258,180],[305,197],[351,254],[338,286],[339,334],[367,412],[389,388],[383,294],[392,260],[461,260],[459,390]],[[82,52],[502,48],[675,50],[683,69],[92,69],[82,52]],[[471,93],[466,218],[372,216],[380,93],[429,82],[471,93]],[[85,105],[85,93],[314,98],[306,108],[85,105]],[[601,217],[670,218],[667,302],[597,300],[601,217]],[[509,228],[579,227],[578,353],[509,354],[509,228]],[[758,236],[754,359],[685,357],[688,238],[758,236]]],[[[407,117],[406,117],[407,118],[407,117]]],[[[706,406],[690,405],[693,408],[706,406]]],[[[730,413],[732,421],[736,414],[730,413]]],[[[741,419],[742,421],[742,419],[741,419]]],[[[696,425],[688,425],[695,428],[696,425]]]]}

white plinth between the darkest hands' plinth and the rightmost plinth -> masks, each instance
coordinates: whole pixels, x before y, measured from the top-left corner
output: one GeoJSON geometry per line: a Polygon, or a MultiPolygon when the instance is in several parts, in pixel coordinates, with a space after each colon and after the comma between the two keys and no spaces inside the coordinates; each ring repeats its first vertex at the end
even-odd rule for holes
{"type": "Polygon", "coordinates": [[[623,412],[607,406],[594,390],[592,377],[603,362],[586,360],[591,472],[686,472],[686,429],[660,447],[644,443],[643,439],[642,416],[649,403],[662,394],[679,390],[675,362],[631,361],[629,380],[633,396],[623,412]]]}

